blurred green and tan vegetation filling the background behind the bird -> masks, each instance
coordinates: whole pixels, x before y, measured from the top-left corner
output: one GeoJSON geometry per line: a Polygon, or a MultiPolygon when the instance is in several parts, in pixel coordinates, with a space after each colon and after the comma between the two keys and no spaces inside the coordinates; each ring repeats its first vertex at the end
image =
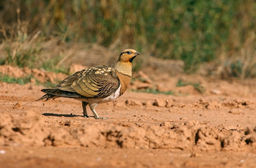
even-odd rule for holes
{"type": "Polygon", "coordinates": [[[63,42],[181,59],[187,73],[219,60],[231,75],[255,77],[255,11],[255,0],[2,0],[0,42],[42,31],[63,42]]]}

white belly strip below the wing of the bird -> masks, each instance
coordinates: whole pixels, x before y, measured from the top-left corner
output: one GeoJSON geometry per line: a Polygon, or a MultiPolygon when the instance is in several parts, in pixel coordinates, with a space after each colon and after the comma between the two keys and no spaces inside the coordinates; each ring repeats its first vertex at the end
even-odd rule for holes
{"type": "Polygon", "coordinates": [[[108,103],[113,100],[116,100],[120,96],[120,89],[121,89],[121,84],[119,83],[119,87],[117,88],[116,92],[106,98],[75,98],[76,100],[80,101],[85,101],[88,102],[89,104],[92,103],[108,103]]]}

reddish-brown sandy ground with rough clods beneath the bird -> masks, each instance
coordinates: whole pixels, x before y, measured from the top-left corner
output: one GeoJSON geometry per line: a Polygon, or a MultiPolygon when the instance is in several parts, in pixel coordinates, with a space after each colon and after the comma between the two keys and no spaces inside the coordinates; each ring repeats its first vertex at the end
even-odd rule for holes
{"type": "MultiPolygon", "coordinates": [[[[2,66],[0,72],[10,69],[2,66]]],[[[255,167],[255,80],[147,72],[150,81],[135,80],[120,98],[97,107],[106,120],[84,118],[81,102],[68,98],[13,109],[43,96],[44,87],[0,82],[0,168],[255,167]],[[179,79],[199,82],[204,93],[177,87],[179,79]],[[146,87],[174,94],[132,92],[146,87]]]]}

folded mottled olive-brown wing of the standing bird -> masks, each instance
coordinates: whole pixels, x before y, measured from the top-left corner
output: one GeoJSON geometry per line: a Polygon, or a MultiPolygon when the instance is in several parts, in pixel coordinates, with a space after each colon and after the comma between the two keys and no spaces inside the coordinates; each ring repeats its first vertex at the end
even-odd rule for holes
{"type": "Polygon", "coordinates": [[[42,89],[47,94],[69,98],[105,98],[119,87],[114,68],[99,66],[86,68],[68,76],[54,89],[42,89]]]}

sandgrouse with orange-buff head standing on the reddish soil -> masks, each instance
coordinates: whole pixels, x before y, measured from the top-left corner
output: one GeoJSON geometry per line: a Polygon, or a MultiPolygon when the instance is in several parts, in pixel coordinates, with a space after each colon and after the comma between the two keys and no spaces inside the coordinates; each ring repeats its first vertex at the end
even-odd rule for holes
{"type": "Polygon", "coordinates": [[[73,98],[82,101],[84,117],[89,117],[86,111],[89,105],[95,119],[107,119],[99,117],[95,108],[99,103],[111,102],[124,94],[132,78],[132,60],[138,55],[141,54],[136,50],[125,49],[116,63],[78,71],[52,89],[41,89],[46,94],[35,101],[73,98]]]}

